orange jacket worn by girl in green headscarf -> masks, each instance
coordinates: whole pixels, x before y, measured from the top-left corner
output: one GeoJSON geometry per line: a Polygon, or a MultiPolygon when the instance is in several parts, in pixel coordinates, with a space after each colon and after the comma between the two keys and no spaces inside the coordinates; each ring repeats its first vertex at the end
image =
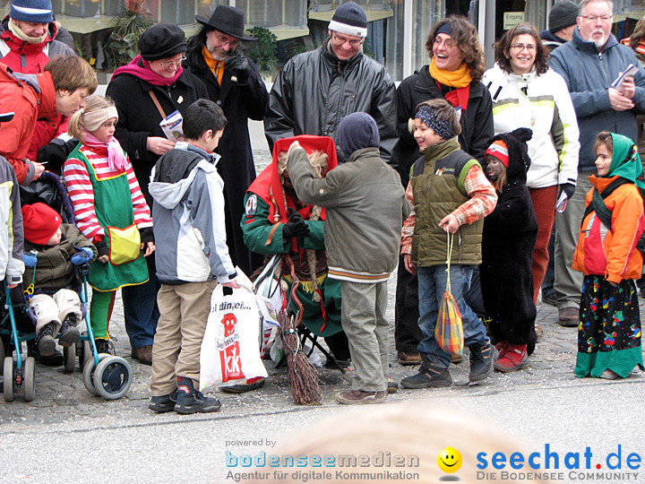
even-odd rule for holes
{"type": "MultiPolygon", "coordinates": [[[[591,185],[603,190],[616,177],[589,177],[591,185]]],[[[593,188],[587,193],[586,205],[591,203],[593,188]]],[[[607,281],[620,282],[624,279],[641,277],[643,258],[636,249],[636,243],[645,229],[643,200],[636,186],[625,184],[615,189],[605,199],[607,209],[612,212],[612,229],[608,230],[591,212],[582,220],[578,235],[578,246],[573,255],[573,269],[585,274],[605,276],[607,281]]]]}

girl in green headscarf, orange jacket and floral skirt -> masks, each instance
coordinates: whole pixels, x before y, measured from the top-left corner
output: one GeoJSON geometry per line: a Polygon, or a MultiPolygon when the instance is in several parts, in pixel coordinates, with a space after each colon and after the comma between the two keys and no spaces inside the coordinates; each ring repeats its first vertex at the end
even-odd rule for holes
{"type": "Polygon", "coordinates": [[[643,256],[637,248],[643,229],[641,157],[622,134],[598,133],[598,175],[592,188],[573,255],[583,272],[575,375],[625,378],[643,369],[641,314],[635,279],[643,256]]]}

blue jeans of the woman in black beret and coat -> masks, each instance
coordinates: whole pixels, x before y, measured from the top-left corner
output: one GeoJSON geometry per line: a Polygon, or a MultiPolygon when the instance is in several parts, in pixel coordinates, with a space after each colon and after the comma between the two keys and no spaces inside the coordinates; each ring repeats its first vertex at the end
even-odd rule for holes
{"type": "Polygon", "coordinates": [[[154,341],[159,321],[157,292],[159,283],[155,272],[150,271],[150,279],[138,286],[125,286],[121,289],[124,302],[125,331],[130,338],[132,349],[150,346],[154,341]]]}

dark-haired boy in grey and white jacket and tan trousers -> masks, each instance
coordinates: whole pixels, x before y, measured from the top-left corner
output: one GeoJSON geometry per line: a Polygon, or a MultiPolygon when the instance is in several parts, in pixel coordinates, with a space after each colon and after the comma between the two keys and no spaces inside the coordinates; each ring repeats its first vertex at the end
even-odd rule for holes
{"type": "Polygon", "coordinates": [[[226,245],[224,182],[215,168],[227,120],[199,99],[184,115],[185,142],[164,154],[150,175],[157,250],[159,324],[152,347],[151,411],[219,411],[199,392],[200,350],[217,283],[239,288],[226,245]]]}

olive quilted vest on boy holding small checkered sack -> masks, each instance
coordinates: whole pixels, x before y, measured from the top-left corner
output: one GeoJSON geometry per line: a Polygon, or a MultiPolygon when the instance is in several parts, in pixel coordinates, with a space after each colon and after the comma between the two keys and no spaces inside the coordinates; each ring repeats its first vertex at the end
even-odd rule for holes
{"type": "MultiPolygon", "coordinates": [[[[479,162],[460,150],[457,138],[435,144],[412,166],[410,183],[416,212],[412,259],[419,266],[446,263],[448,238],[439,221],[469,201],[464,179],[479,162]]],[[[452,264],[481,264],[484,220],[462,225],[454,234],[452,264]]]]}

